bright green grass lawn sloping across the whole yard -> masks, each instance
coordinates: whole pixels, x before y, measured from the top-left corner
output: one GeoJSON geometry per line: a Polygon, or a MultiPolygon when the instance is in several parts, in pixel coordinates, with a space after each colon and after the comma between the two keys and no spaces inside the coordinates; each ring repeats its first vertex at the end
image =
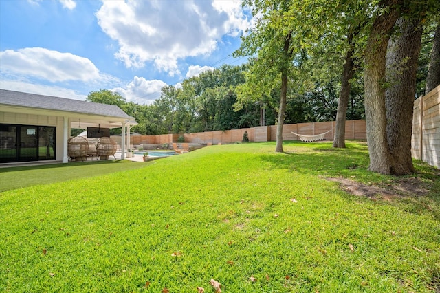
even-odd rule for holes
{"type": "Polygon", "coordinates": [[[1,170],[2,188],[15,185],[0,193],[0,291],[215,292],[211,279],[222,292],[440,290],[439,170],[415,162],[423,196],[351,195],[326,177],[397,178],[367,170],[364,143],[347,145],[1,170]],[[41,171],[56,182],[28,186],[41,171]]]}

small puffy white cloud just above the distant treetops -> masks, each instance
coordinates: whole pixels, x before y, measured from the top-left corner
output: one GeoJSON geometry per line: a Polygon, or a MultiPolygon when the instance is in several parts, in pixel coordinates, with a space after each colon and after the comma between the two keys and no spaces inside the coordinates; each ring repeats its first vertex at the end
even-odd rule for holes
{"type": "Polygon", "coordinates": [[[118,91],[127,102],[150,105],[160,97],[162,87],[164,86],[166,86],[166,83],[162,80],[146,80],[143,77],[135,76],[128,85],[115,87],[111,90],[118,91]]]}

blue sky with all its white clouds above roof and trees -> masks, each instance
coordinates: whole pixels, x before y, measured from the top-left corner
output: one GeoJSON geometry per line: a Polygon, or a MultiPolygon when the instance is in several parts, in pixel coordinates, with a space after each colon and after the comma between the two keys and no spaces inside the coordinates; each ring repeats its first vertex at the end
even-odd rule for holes
{"type": "Polygon", "coordinates": [[[164,85],[243,63],[230,55],[251,26],[234,0],[0,0],[0,88],[151,104],[164,85]]]}

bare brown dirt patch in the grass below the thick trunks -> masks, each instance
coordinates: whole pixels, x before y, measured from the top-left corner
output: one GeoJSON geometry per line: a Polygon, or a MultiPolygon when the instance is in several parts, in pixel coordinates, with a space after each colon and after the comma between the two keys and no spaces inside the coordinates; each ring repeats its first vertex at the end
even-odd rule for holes
{"type": "Polygon", "coordinates": [[[339,182],[341,187],[358,196],[370,197],[372,199],[382,198],[391,200],[395,197],[423,196],[429,192],[426,182],[422,182],[419,178],[401,178],[387,184],[386,186],[366,185],[347,178],[327,178],[329,181],[339,182]]]}

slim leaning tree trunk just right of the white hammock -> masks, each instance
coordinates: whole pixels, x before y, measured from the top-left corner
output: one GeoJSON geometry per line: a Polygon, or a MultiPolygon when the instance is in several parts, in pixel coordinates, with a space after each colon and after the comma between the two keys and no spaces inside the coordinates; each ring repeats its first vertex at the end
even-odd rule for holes
{"type": "Polygon", "coordinates": [[[353,62],[353,34],[350,33],[347,39],[350,47],[347,50],[344,70],[342,72],[341,91],[339,94],[338,111],[336,112],[335,136],[333,138],[333,147],[337,148],[345,147],[345,120],[347,120],[347,106],[349,105],[350,98],[350,80],[353,78],[355,65],[353,62]]]}

